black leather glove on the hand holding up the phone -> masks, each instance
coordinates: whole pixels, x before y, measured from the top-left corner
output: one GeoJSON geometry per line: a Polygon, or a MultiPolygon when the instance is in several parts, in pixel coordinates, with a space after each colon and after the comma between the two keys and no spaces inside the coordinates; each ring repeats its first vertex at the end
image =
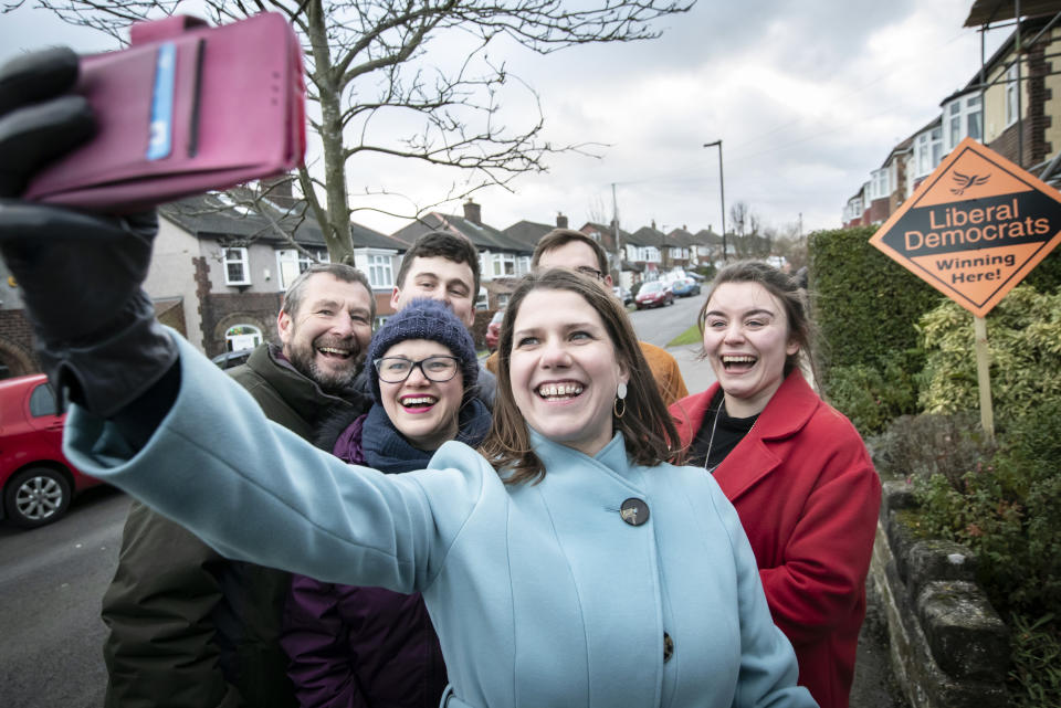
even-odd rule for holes
{"type": "Polygon", "coordinates": [[[64,94],[76,77],[69,49],[0,67],[0,254],[56,392],[109,418],[166,373],[177,348],[140,288],[154,211],[109,216],[17,199],[36,170],[94,131],[87,102],[64,94]]]}

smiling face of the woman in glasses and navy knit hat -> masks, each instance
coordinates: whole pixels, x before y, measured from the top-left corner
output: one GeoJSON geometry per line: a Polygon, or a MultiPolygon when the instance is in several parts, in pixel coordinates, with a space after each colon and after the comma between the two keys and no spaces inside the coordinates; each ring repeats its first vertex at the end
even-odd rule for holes
{"type": "MultiPolygon", "coordinates": [[[[434,356],[452,357],[453,352],[431,339],[406,339],[384,353],[385,358],[401,357],[409,361],[434,356]]],[[[434,451],[456,437],[458,415],[464,395],[460,364],[449,381],[431,381],[421,367],[413,367],[402,383],[380,379],[379,395],[387,418],[413,446],[434,451]]]]}

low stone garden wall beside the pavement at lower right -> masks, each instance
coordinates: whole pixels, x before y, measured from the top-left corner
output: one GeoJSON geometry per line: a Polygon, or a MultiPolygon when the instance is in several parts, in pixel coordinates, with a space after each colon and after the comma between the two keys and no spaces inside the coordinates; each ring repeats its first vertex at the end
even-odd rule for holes
{"type": "Polygon", "coordinates": [[[887,617],[891,663],[912,708],[1005,708],[1009,630],[959,543],[915,538],[903,482],[885,482],[870,579],[887,617]]]}

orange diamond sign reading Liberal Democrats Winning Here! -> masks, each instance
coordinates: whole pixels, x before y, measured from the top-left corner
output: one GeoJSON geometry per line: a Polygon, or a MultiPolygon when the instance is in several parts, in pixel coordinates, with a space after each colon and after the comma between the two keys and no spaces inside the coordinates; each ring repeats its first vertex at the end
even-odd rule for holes
{"type": "Polygon", "coordinates": [[[984,317],[1061,241],[1061,193],[971,138],[870,243],[984,317]]]}

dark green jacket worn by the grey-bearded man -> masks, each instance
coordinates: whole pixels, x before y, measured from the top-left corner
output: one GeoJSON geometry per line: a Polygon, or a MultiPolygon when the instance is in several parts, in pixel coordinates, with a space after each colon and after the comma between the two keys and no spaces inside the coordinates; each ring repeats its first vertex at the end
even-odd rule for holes
{"type": "MultiPolygon", "coordinates": [[[[368,409],[325,394],[277,351],[263,345],[231,371],[270,420],[309,440],[329,413],[368,409]]],[[[296,707],[277,641],[288,585],[288,573],[228,560],[134,501],[103,598],[105,706],[296,707]]]]}

